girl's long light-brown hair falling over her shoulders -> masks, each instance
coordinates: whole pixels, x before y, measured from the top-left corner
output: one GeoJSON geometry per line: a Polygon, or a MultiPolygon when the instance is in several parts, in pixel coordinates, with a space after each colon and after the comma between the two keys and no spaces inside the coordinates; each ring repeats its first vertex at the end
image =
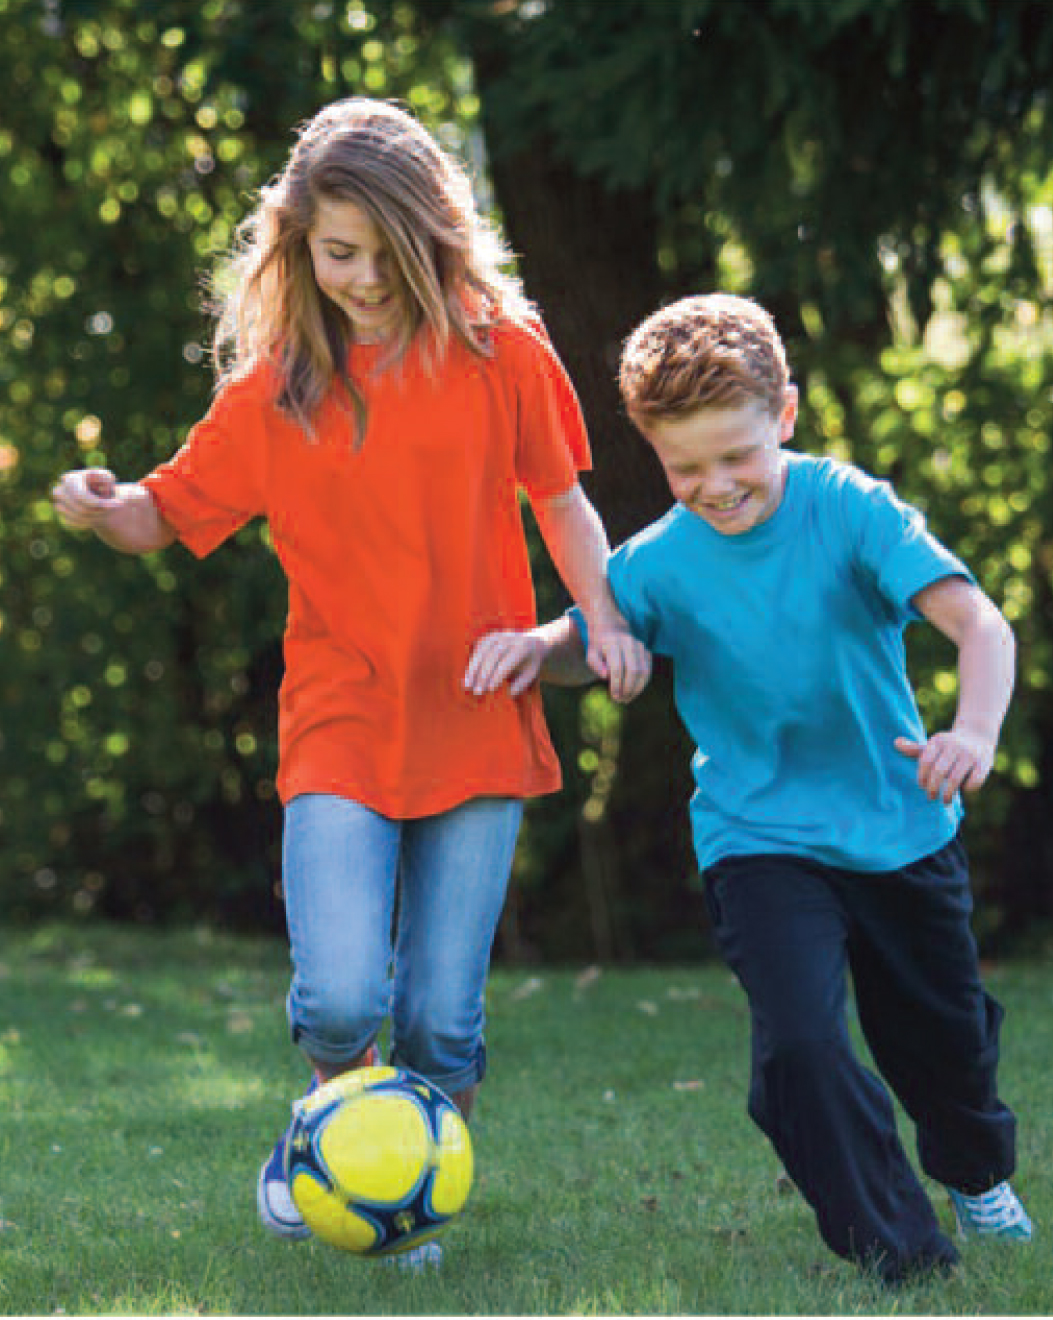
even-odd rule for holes
{"type": "Polygon", "coordinates": [[[488,327],[528,319],[532,308],[503,271],[508,249],[479,215],[466,172],[412,115],[368,98],[326,106],[301,127],[212,282],[212,362],[219,385],[269,363],[278,407],[309,436],[340,381],[362,442],[366,405],[347,371],[351,325],[318,289],[307,246],[319,197],[354,202],[391,246],[408,313],[389,363],[418,331],[433,364],[451,334],[487,355],[488,327]]]}

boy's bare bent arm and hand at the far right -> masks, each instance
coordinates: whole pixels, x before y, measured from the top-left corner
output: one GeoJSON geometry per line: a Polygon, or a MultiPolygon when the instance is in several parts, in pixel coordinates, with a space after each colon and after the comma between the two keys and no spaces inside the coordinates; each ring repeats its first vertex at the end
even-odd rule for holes
{"type": "Polygon", "coordinates": [[[966,578],[941,578],[913,605],[958,647],[958,710],[946,733],[924,743],[897,738],[896,748],[917,760],[929,797],[949,803],[959,788],[975,792],[991,772],[1013,690],[1016,644],[1002,611],[966,578]]]}

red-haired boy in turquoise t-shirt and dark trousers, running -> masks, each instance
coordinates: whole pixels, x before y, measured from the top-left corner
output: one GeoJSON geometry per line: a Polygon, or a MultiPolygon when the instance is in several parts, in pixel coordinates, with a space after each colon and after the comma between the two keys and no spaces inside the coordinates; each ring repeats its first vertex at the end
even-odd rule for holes
{"type": "MultiPolygon", "coordinates": [[[[958,840],[958,791],[994,763],[1012,632],[887,483],[782,449],[797,391],[756,304],[714,294],[657,312],[627,342],[619,383],[678,503],[608,574],[635,635],[672,657],[698,744],[691,828],[717,941],[750,1001],[750,1114],[838,1255],[888,1282],[958,1259],[885,1088],[851,1048],[847,966],[959,1233],[1029,1238],[1007,1181],[1002,1008],[980,985],[958,840]],[[932,738],[903,644],[918,616],[959,657],[954,723],[932,738]]],[[[466,685],[587,681],[582,632],[573,612],[494,634],[466,685]]]]}

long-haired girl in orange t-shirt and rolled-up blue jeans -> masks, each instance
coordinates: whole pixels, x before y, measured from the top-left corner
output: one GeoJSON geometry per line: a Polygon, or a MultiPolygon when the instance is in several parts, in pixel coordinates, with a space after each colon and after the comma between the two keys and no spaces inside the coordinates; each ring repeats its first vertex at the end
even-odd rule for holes
{"type": "MultiPolygon", "coordinates": [[[[559,785],[537,686],[464,685],[483,635],[534,623],[520,486],[618,700],[643,685],[647,652],[577,482],[590,459],[574,391],[467,176],[424,128],[381,102],[326,107],[240,239],[208,414],[143,480],[67,473],[54,504],[140,554],[178,539],[205,556],[268,519],[289,579],[292,1038],[326,1080],[377,1059],[391,1007],[392,1061],[467,1118],[523,800],[559,785]]],[[[284,1137],[260,1171],[260,1217],[303,1237],[282,1151],[284,1137]]]]}

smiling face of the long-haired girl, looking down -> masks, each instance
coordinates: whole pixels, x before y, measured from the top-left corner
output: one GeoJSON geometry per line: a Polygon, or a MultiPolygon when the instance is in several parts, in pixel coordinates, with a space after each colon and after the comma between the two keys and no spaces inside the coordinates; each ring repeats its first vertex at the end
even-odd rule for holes
{"type": "Polygon", "coordinates": [[[318,288],[351,322],[355,339],[389,339],[404,314],[405,289],[395,253],[366,211],[319,197],[307,246],[318,288]]]}

